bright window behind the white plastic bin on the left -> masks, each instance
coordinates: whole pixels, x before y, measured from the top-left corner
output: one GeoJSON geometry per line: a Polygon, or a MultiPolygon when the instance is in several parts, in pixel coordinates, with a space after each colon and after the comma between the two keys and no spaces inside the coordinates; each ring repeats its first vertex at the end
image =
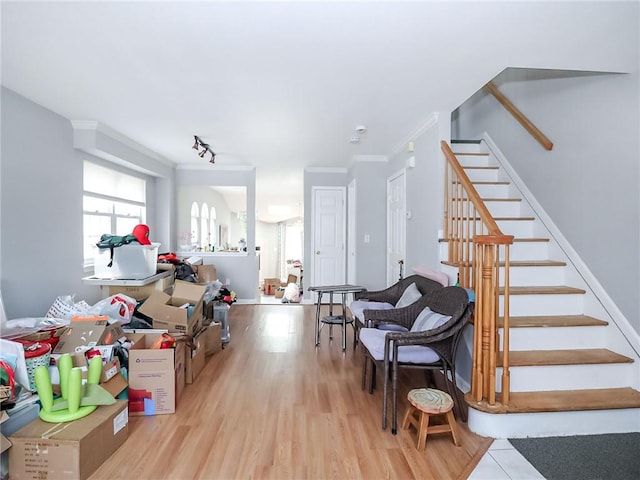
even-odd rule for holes
{"type": "Polygon", "coordinates": [[[105,233],[127,235],[146,223],[146,181],[92,162],[84,162],[83,256],[93,265],[95,245],[105,233]]]}

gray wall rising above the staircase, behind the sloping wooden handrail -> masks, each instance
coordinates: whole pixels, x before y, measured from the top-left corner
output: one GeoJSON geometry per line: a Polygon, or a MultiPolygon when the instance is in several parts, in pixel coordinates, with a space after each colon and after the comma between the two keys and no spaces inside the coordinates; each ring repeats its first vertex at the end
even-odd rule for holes
{"type": "MultiPolygon", "coordinates": [[[[637,47],[636,47],[637,48],[637,47]]],[[[457,138],[487,132],[631,325],[640,331],[640,77],[506,71],[500,90],[554,143],[546,151],[474,95],[457,138]]]]}

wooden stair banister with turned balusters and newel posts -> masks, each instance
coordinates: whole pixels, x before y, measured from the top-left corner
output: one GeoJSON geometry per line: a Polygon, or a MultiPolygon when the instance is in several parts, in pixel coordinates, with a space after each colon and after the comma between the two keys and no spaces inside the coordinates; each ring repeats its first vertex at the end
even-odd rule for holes
{"type": "Polygon", "coordinates": [[[451,147],[445,141],[440,143],[446,159],[444,238],[449,245],[448,261],[458,266],[460,285],[473,289],[476,295],[470,395],[476,402],[496,405],[496,369],[502,368],[500,403],[508,405],[509,246],[513,235],[502,233],[451,147]],[[498,324],[501,293],[502,345],[498,324]]]}

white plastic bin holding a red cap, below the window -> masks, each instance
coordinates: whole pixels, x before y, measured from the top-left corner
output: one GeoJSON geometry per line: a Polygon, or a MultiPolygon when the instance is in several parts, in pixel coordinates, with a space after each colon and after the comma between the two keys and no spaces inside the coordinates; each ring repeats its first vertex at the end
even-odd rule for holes
{"type": "Polygon", "coordinates": [[[109,248],[96,247],[94,276],[103,279],[141,280],[156,274],[159,243],[140,245],[130,243],[113,249],[113,263],[109,248]]]}

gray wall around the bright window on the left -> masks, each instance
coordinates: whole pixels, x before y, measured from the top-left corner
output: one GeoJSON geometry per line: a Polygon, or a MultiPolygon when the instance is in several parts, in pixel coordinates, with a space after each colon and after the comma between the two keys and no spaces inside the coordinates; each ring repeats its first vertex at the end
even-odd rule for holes
{"type": "MultiPolygon", "coordinates": [[[[95,303],[102,297],[100,288],[82,283],[82,277],[92,273],[84,270],[82,258],[82,175],[83,160],[104,160],[74,147],[68,119],[4,87],[1,101],[0,289],[7,316],[44,316],[60,295],[95,303]]],[[[142,155],[126,145],[118,148],[125,156],[142,155]]],[[[116,168],[141,175],[122,165],[116,168]]],[[[169,176],[161,185],[152,181],[148,195],[160,192],[172,205],[173,191],[169,176]]],[[[152,232],[171,220],[171,208],[159,212],[155,206],[151,202],[148,210],[152,232]]],[[[168,242],[162,233],[166,231],[159,229],[154,240],[168,242]]]]}

